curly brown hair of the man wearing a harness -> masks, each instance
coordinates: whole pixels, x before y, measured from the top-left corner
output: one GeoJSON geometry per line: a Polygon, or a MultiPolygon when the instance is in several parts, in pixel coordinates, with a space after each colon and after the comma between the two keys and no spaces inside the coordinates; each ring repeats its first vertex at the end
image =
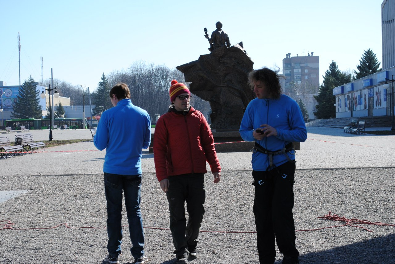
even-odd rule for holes
{"type": "Polygon", "coordinates": [[[278,71],[273,71],[267,67],[250,71],[248,74],[248,82],[251,86],[251,90],[254,90],[254,82],[261,81],[263,84],[265,84],[269,94],[274,99],[280,98],[280,95],[282,94],[280,78],[283,77],[282,75],[278,74],[278,71]]]}

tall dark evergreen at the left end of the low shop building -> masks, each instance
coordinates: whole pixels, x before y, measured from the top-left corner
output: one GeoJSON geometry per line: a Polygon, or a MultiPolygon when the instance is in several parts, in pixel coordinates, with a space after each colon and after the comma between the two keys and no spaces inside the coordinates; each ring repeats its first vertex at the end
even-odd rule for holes
{"type": "Polygon", "coordinates": [[[320,86],[318,95],[314,95],[317,101],[316,118],[334,118],[336,109],[333,106],[336,103],[333,88],[351,82],[351,75],[343,73],[337,67],[336,62],[329,64],[329,69],[325,71],[324,81],[320,86]]]}

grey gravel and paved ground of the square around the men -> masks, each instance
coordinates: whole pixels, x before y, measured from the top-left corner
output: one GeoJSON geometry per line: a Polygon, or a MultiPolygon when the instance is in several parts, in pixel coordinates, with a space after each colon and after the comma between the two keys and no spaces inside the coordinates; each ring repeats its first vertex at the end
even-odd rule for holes
{"type": "MultiPolygon", "coordinates": [[[[338,135],[338,130],[314,127],[308,131],[309,140],[297,152],[296,229],[343,224],[317,218],[329,212],[348,219],[395,224],[394,137],[338,135]]],[[[92,142],[46,150],[0,161],[0,191],[27,191],[0,202],[1,223],[15,223],[14,230],[0,230],[0,263],[102,263],[107,252],[101,172],[104,152],[93,151],[92,142]],[[17,230],[62,223],[71,228],[61,225],[17,230]]],[[[222,179],[213,184],[206,174],[206,213],[201,227],[213,232],[199,234],[199,258],[191,263],[259,263],[256,234],[248,233],[255,231],[250,154],[218,156],[222,179]]],[[[170,231],[147,228],[169,227],[166,196],[159,188],[152,163],[152,154],[145,152],[141,202],[145,249],[149,263],[169,264],[174,262],[170,231]]],[[[127,225],[125,215],[123,224],[127,225]]],[[[300,263],[394,263],[395,227],[362,226],[373,232],[350,226],[298,231],[300,263]]],[[[120,260],[132,263],[128,227],[124,227],[124,235],[120,260]]],[[[278,253],[276,264],[281,259],[278,253]]]]}

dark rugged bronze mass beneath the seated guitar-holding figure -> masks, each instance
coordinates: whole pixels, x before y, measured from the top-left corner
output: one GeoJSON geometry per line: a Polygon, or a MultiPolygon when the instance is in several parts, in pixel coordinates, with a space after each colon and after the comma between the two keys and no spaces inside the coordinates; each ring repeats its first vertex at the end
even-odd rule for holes
{"type": "Polygon", "coordinates": [[[240,42],[229,48],[222,45],[176,68],[191,82],[192,94],[209,101],[211,129],[238,131],[245,107],[255,98],[248,85],[253,65],[240,42]]]}

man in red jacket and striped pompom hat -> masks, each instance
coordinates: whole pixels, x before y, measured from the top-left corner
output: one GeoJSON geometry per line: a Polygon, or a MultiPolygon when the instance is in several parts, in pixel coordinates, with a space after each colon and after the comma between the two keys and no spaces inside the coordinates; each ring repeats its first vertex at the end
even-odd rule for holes
{"type": "Polygon", "coordinates": [[[156,177],[169,201],[176,263],[185,264],[188,263],[188,255],[190,259],[198,257],[196,245],[206,198],[206,160],[214,175],[214,183],[220,181],[221,166],[205,117],[189,104],[191,94],[188,87],[173,80],[169,95],[172,105],[155,126],[154,161],[156,177]]]}

